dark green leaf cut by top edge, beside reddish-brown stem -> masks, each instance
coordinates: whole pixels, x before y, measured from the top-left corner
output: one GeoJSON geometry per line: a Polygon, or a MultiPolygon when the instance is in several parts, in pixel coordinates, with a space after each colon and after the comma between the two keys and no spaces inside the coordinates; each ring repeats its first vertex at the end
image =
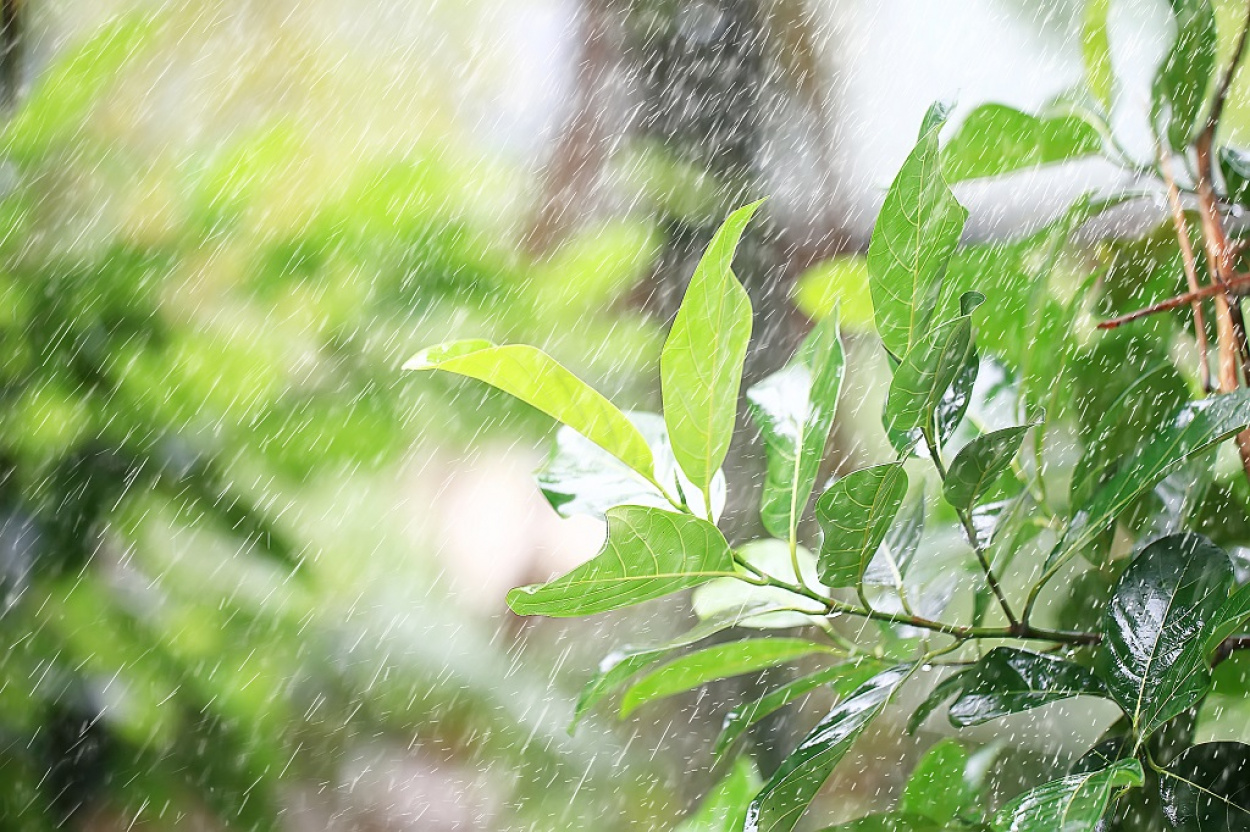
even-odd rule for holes
{"type": "Polygon", "coordinates": [[[1215,72],[1215,10],[1210,0],[1169,0],[1176,40],[1155,75],[1150,119],[1182,150],[1199,129],[1206,89],[1215,72]]]}

